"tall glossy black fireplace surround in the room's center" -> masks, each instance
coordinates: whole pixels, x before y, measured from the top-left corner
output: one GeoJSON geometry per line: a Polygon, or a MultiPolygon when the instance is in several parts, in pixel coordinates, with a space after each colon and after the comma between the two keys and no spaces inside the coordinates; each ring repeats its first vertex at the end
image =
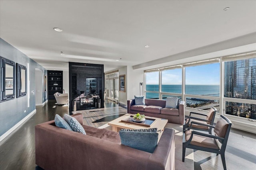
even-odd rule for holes
{"type": "Polygon", "coordinates": [[[69,62],[69,110],[104,107],[104,65],[69,62]]]}

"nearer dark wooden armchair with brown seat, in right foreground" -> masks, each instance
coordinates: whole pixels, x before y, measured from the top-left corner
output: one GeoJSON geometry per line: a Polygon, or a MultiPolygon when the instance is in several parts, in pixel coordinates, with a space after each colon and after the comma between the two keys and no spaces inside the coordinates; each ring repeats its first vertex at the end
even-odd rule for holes
{"type": "Polygon", "coordinates": [[[217,156],[220,154],[223,168],[226,170],[225,150],[231,125],[231,121],[223,115],[220,115],[215,127],[192,121],[190,123],[190,127],[183,133],[182,162],[185,161],[186,148],[203,150],[206,152],[216,153],[217,156]],[[214,128],[215,135],[191,130],[190,128],[192,127],[193,123],[214,128]],[[222,144],[221,147],[219,142],[222,144]]]}

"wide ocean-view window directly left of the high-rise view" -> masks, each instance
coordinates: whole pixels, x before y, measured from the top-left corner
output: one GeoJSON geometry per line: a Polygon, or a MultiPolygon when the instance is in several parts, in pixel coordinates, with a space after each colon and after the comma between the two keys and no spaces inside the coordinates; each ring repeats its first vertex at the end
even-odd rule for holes
{"type": "Polygon", "coordinates": [[[220,63],[185,66],[186,107],[219,112],[220,63]]]}

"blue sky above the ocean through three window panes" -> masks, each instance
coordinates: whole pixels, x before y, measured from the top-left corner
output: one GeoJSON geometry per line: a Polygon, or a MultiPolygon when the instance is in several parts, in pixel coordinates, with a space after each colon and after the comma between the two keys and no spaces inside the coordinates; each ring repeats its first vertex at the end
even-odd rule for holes
{"type": "MultiPolygon", "coordinates": [[[[186,84],[218,85],[219,79],[219,63],[186,67],[186,84]]],[[[146,73],[146,84],[158,84],[158,80],[158,72],[146,73]]],[[[181,68],[162,71],[162,84],[181,84],[181,81],[181,68]]]]}

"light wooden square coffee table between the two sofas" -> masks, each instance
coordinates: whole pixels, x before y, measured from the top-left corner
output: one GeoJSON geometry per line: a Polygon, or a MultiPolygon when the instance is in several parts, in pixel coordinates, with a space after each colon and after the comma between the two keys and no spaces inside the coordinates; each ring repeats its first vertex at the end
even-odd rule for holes
{"type": "Polygon", "coordinates": [[[152,118],[156,119],[154,123],[150,125],[150,127],[146,127],[143,125],[137,125],[137,124],[132,124],[132,123],[126,123],[122,122],[121,120],[128,119],[133,114],[125,114],[121,117],[118,117],[117,119],[114,119],[110,122],[108,122],[108,125],[112,126],[112,131],[118,132],[120,129],[149,129],[149,128],[157,128],[157,133],[158,133],[158,141],[160,137],[162,136],[162,133],[164,131],[164,127],[167,124],[168,120],[167,119],[161,119],[161,118],[156,118],[156,117],[148,117],[146,118],[152,118]]]}

